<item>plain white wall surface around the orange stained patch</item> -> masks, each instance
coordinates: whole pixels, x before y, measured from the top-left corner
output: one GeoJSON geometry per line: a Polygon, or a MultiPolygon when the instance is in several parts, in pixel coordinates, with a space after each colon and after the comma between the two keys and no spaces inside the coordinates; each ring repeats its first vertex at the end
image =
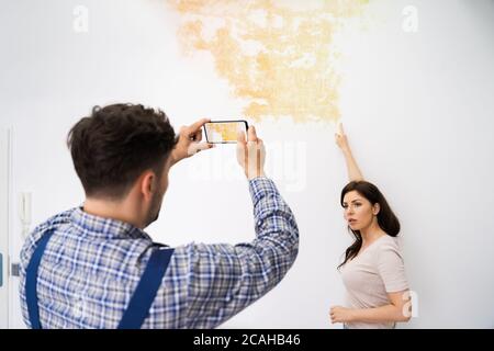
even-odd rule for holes
{"type": "MultiPolygon", "coordinates": [[[[83,200],[64,143],[92,105],[160,106],[177,127],[242,111],[211,60],[180,55],[178,19],[161,1],[19,0],[0,9],[0,126],[14,129],[13,205],[18,193],[33,192],[33,226],[83,200]],[[77,4],[90,11],[87,34],[72,31],[77,4]]],[[[494,2],[377,0],[369,11],[366,27],[341,37],[340,109],[364,176],[402,222],[419,307],[403,327],[492,328],[494,2]],[[418,10],[417,33],[402,30],[405,5],[418,10]]],[[[339,328],[328,308],[343,303],[336,265],[350,238],[334,128],[281,121],[258,132],[268,173],[295,213],[300,256],[277,288],[223,327],[339,328]]],[[[232,148],[187,160],[170,181],[160,219],[148,228],[156,240],[252,238],[232,148]]],[[[15,254],[21,226],[16,213],[11,219],[15,254]]],[[[18,299],[10,304],[12,327],[22,327],[18,299]]]]}

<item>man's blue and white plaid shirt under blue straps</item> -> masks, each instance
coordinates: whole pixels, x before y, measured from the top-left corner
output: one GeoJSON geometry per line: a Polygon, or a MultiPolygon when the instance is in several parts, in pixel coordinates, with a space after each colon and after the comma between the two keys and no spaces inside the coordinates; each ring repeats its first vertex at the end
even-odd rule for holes
{"type": "MultiPolygon", "coordinates": [[[[295,218],[274,183],[249,181],[251,242],[177,247],[143,328],[214,328],[269,292],[293,264],[295,218]]],[[[143,230],[81,207],[37,226],[21,251],[21,305],[30,326],[25,272],[37,241],[55,230],[40,264],[43,328],[116,328],[151,253],[143,230]]]]}

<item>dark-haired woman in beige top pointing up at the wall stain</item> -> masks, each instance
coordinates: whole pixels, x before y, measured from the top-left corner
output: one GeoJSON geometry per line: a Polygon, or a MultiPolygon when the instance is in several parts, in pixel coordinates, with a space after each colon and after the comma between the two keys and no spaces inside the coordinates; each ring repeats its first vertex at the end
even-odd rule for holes
{"type": "Polygon", "coordinates": [[[395,238],[400,222],[378,188],[363,180],[341,126],[335,137],[350,178],[340,203],[355,241],[338,267],[347,291],[346,307],[333,306],[330,319],[346,329],[394,328],[411,316],[408,283],[395,238]]]}

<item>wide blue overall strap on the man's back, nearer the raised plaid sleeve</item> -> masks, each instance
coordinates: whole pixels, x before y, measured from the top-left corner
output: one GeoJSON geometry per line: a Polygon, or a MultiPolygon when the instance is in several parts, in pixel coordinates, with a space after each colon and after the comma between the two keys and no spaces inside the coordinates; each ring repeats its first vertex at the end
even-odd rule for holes
{"type": "Polygon", "coordinates": [[[154,249],[144,274],[131,297],[127,309],[119,324],[119,329],[141,328],[155,301],[159,286],[161,286],[172,253],[173,249],[154,249]]]}

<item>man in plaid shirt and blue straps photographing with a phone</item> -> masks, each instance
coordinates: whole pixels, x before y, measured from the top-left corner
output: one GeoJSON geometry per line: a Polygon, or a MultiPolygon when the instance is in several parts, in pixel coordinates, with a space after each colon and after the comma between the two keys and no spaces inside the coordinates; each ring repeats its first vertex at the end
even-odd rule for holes
{"type": "MultiPolygon", "coordinates": [[[[249,182],[256,238],[236,246],[154,244],[170,168],[213,145],[201,120],[176,137],[143,105],[96,107],[68,146],[86,201],[37,226],[21,252],[21,303],[31,328],[214,328],[277,285],[293,264],[299,230],[263,173],[250,127],[237,159],[249,182]]],[[[184,215],[186,216],[186,215],[184,215]]]]}

